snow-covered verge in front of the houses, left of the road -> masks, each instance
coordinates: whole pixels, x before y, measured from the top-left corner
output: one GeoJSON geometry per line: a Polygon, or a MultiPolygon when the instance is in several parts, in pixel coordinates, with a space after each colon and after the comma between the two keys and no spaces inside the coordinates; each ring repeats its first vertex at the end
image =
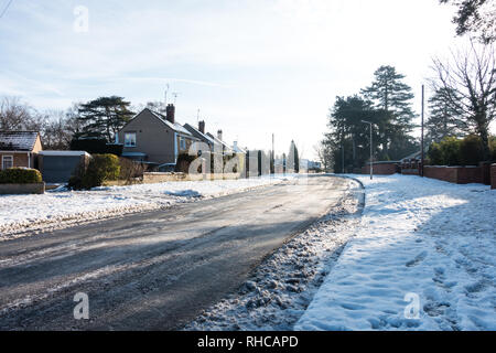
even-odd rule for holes
{"type": "Polygon", "coordinates": [[[180,202],[226,195],[292,178],[295,175],[166,182],[96,188],[90,191],[55,190],[42,195],[0,195],[0,242],[133,212],[158,210],[180,202]]]}

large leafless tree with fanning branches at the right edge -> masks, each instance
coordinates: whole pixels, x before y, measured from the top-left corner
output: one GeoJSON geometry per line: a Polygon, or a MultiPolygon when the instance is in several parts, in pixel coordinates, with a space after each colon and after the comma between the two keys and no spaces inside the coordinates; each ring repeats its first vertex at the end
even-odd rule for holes
{"type": "Polygon", "coordinates": [[[471,41],[464,52],[452,53],[451,61],[433,60],[434,90],[445,89],[446,104],[463,114],[481,137],[484,158],[489,159],[489,125],[496,116],[496,61],[493,45],[471,41]]]}

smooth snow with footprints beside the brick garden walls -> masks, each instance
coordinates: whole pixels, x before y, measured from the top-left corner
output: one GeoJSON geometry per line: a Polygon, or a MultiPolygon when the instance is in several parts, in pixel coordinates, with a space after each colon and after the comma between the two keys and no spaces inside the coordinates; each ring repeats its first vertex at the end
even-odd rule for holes
{"type": "Polygon", "coordinates": [[[496,330],[496,191],[354,176],[356,236],[294,329],[496,330]]]}

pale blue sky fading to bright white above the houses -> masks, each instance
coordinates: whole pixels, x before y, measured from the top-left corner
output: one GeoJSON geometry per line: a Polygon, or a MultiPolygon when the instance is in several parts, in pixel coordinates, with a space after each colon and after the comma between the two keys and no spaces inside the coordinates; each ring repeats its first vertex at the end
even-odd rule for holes
{"type": "MultiPolygon", "coordinates": [[[[0,0],[3,9],[8,0],[0,0]]],[[[433,55],[456,43],[438,0],[13,0],[0,19],[0,95],[39,109],[120,95],[164,99],[182,124],[228,142],[304,158],[326,131],[336,95],[389,64],[420,96],[433,55]],[[88,31],[75,31],[78,6],[88,31]]],[[[418,97],[419,98],[419,97],[418,97]]],[[[419,99],[416,109],[419,111],[419,99]]]]}

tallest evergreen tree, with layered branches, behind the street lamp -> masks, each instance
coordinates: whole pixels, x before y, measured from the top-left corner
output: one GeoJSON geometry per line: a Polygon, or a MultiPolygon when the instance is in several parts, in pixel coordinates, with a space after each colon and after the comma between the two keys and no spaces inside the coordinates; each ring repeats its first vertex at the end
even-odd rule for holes
{"type": "Polygon", "coordinates": [[[391,158],[398,154],[399,149],[403,149],[401,146],[414,127],[411,106],[414,96],[411,87],[402,82],[405,75],[397,73],[392,66],[380,66],[374,77],[373,84],[362,89],[362,94],[373,103],[376,110],[382,111],[380,141],[385,158],[391,158]]]}

